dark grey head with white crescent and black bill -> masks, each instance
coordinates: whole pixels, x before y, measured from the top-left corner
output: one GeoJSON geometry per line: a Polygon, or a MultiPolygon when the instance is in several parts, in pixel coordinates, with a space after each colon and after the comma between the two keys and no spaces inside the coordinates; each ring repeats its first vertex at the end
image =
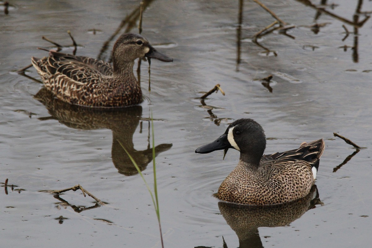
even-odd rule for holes
{"type": "Polygon", "coordinates": [[[266,148],[266,137],[261,125],[252,119],[235,120],[218,139],[199,147],[195,152],[227,151],[229,148],[240,151],[241,155],[250,155],[254,160],[260,160],[266,148]]]}

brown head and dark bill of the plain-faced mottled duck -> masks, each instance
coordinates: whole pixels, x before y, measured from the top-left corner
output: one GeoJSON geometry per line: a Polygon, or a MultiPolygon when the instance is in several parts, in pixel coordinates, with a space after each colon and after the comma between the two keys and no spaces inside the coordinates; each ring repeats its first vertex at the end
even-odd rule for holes
{"type": "MultiPolygon", "coordinates": [[[[121,63],[131,63],[137,58],[155,58],[163,62],[172,62],[173,59],[156,51],[141,35],[125,33],[119,37],[112,49],[114,67],[121,63]]],[[[114,69],[115,70],[115,69],[114,69]]]]}

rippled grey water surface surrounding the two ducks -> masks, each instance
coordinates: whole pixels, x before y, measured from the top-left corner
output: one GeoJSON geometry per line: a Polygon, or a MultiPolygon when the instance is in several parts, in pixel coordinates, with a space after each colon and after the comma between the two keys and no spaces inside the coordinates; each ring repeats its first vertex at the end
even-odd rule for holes
{"type": "MultiPolygon", "coordinates": [[[[8,178],[14,187],[0,194],[1,246],[160,247],[151,198],[115,141],[135,154],[152,182],[152,163],[147,165],[152,159],[152,112],[165,247],[222,247],[222,236],[227,247],[260,247],[257,240],[263,247],[368,247],[371,20],[354,34],[350,23],[324,13],[315,22],[316,11],[301,1],[264,3],[296,26],[288,30],[295,39],[278,32],[263,36],[258,41],[272,51],[267,55],[251,36],[274,19],[256,3],[244,1],[237,66],[238,1],[151,1],[142,34],[174,62],[152,61],[150,93],[147,65],[142,63],[147,100],[140,106],[100,112],[55,101],[40,83],[15,71],[30,64],[31,56],[46,55],[36,48],[53,47],[42,36],[73,52],[67,30],[79,45],[78,55],[97,57],[139,2],[10,2],[8,15],[0,14],[0,182],[8,178]],[[317,33],[310,27],[314,23],[320,26],[317,33]],[[344,40],[342,25],[350,32],[344,40]],[[357,49],[351,49],[356,42],[357,49]],[[272,93],[260,80],[270,74],[272,93]],[[226,95],[212,94],[203,106],[199,97],[217,83],[226,95]],[[290,226],[259,227],[259,239],[255,236],[248,244],[239,243],[212,196],[237,164],[238,152],[229,151],[225,160],[222,151],[194,153],[241,117],[263,126],[269,138],[265,153],[321,137],[326,142],[317,175],[322,204],[317,202],[290,226]],[[333,132],[368,149],[343,164],[356,150],[333,132]],[[41,192],[76,184],[108,204],[81,211],[95,202],[79,191],[61,198],[80,208],[41,192]]],[[[334,9],[326,10],[353,20],[356,1],[334,3],[334,9]]],[[[371,2],[363,2],[361,10],[371,11],[371,2]]],[[[26,75],[39,79],[33,68],[26,75]]]]}

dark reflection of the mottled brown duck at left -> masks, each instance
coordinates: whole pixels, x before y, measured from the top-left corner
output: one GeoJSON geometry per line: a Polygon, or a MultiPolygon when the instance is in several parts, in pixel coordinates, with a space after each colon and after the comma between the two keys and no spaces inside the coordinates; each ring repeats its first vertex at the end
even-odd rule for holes
{"type": "MultiPolygon", "coordinates": [[[[48,109],[51,117],[39,118],[56,119],[60,123],[74,129],[92,130],[107,128],[112,130],[112,162],[120,174],[134,175],[137,170],[128,155],[120,145],[131,154],[141,171],[153,160],[153,151],[148,144],[147,149],[137,151],[134,149],[133,134],[140,123],[142,116],[141,106],[125,107],[120,109],[92,109],[62,102],[56,99],[46,88],[41,88],[34,96],[48,109]]],[[[167,151],[172,144],[155,146],[155,156],[167,151]]]]}

